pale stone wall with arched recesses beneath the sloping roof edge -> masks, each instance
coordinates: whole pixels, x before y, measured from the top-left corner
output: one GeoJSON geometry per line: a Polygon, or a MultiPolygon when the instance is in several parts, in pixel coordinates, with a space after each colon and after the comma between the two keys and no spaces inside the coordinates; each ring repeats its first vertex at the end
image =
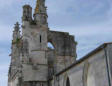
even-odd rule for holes
{"type": "Polygon", "coordinates": [[[104,49],[57,75],[54,82],[55,86],[109,86],[104,49]]]}

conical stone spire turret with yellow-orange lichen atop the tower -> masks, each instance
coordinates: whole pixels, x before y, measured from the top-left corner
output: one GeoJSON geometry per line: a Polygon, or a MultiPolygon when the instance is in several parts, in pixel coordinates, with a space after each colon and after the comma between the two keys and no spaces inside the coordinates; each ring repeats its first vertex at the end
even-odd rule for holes
{"type": "Polygon", "coordinates": [[[34,13],[34,20],[37,24],[41,25],[48,25],[47,23],[47,12],[45,6],[45,0],[37,0],[35,13],[34,13]]]}

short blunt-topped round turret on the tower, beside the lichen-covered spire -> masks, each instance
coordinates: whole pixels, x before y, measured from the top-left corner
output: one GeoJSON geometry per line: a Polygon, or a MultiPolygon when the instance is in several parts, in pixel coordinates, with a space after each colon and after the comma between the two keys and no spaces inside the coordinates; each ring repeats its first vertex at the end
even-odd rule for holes
{"type": "Polygon", "coordinates": [[[22,21],[32,21],[32,7],[30,5],[23,6],[22,21]]]}

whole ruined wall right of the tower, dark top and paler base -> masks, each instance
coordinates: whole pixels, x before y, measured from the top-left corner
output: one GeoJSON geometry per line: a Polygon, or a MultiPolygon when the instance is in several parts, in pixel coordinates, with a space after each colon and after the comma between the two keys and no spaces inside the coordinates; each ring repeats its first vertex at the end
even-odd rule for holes
{"type": "Polygon", "coordinates": [[[67,32],[49,31],[48,42],[51,42],[55,51],[56,72],[59,72],[73,62],[75,62],[76,55],[76,41],[74,36],[67,32]]]}

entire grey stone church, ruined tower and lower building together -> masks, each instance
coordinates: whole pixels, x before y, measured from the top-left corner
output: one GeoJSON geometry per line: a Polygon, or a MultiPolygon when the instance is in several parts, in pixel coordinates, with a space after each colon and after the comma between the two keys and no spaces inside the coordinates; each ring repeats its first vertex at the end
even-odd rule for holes
{"type": "Polygon", "coordinates": [[[8,86],[112,86],[112,43],[77,59],[77,42],[68,32],[48,27],[45,0],[23,6],[22,32],[14,26],[8,86]],[[52,47],[49,46],[52,45],[52,47]]]}

